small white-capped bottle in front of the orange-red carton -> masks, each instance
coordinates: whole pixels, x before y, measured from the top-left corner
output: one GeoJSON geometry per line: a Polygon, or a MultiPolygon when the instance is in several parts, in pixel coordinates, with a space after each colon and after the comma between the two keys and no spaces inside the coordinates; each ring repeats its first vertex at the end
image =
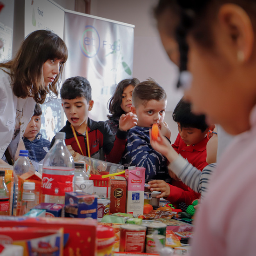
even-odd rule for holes
{"type": "Polygon", "coordinates": [[[24,215],[33,209],[35,206],[35,183],[34,182],[24,182],[23,183],[23,193],[21,200],[21,210],[20,215],[24,215]]]}

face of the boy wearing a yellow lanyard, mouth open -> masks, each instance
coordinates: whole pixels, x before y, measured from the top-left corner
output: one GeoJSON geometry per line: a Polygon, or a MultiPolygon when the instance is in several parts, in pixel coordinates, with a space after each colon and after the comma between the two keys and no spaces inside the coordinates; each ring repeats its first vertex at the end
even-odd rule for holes
{"type": "Polygon", "coordinates": [[[74,126],[79,133],[84,133],[87,128],[88,112],[92,109],[93,101],[87,102],[85,97],[77,97],[73,100],[62,99],[67,120],[74,126]]]}

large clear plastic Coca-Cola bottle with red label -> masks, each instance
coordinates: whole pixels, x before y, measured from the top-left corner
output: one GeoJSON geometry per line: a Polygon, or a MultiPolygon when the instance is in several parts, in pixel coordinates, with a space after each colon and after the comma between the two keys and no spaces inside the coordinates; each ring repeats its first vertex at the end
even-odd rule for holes
{"type": "Polygon", "coordinates": [[[41,202],[65,203],[65,192],[72,192],[74,159],[65,144],[66,134],[58,132],[43,162],[41,202]]]}

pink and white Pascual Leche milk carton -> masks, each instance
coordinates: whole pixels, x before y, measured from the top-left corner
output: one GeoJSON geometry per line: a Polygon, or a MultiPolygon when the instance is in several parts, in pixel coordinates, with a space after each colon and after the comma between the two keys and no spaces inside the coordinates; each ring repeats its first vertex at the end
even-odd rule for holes
{"type": "Polygon", "coordinates": [[[143,215],[145,168],[125,170],[127,181],[126,212],[135,216],[143,215]]]}

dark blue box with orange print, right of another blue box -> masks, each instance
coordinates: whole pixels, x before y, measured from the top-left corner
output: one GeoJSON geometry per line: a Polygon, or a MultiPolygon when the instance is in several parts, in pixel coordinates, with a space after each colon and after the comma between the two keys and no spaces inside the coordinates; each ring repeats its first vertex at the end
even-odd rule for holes
{"type": "Polygon", "coordinates": [[[65,217],[97,219],[97,195],[84,192],[65,193],[65,217]]]}

